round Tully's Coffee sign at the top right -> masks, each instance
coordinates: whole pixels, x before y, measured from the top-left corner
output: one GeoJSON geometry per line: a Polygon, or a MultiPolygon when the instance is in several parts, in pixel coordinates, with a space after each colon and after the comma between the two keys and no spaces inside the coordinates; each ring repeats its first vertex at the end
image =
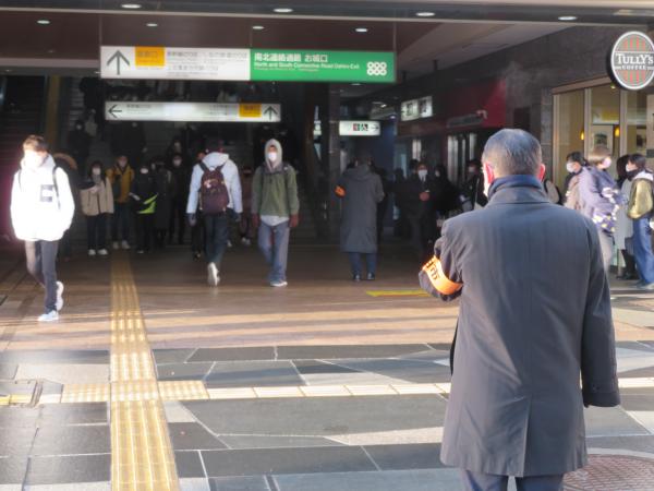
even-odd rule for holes
{"type": "Polygon", "coordinates": [[[632,31],[622,34],[610,51],[615,81],[628,91],[640,91],[654,79],[654,43],[650,36],[632,31]]]}

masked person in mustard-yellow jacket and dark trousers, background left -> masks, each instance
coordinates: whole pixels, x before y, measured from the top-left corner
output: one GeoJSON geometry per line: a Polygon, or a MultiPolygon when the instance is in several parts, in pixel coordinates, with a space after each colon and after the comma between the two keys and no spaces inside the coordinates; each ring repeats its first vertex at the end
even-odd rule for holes
{"type": "Polygon", "coordinates": [[[111,240],[113,249],[130,249],[130,221],[132,209],[130,207],[130,191],[134,182],[134,169],[130,167],[128,157],[119,155],[113,168],[107,172],[113,192],[113,216],[111,217],[111,240]],[[120,235],[119,235],[120,232],[120,235]],[[122,241],[119,242],[119,240],[122,241]]]}

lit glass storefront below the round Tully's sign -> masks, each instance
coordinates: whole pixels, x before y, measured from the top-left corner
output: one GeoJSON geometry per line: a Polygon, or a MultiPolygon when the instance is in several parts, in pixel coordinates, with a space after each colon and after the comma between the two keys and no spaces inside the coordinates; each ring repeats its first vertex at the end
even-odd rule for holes
{"type": "Polygon", "coordinates": [[[594,145],[606,145],[614,160],[625,154],[647,153],[647,95],[654,92],[628,92],[604,82],[555,89],[553,168],[561,190],[566,156],[571,152],[588,155],[594,145]]]}

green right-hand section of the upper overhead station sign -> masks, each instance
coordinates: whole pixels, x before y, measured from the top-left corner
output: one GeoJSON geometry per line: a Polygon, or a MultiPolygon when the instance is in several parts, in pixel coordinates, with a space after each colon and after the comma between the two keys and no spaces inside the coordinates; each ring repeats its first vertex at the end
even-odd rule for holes
{"type": "Polygon", "coordinates": [[[395,55],[380,51],[253,49],[253,81],[392,83],[395,55]]]}

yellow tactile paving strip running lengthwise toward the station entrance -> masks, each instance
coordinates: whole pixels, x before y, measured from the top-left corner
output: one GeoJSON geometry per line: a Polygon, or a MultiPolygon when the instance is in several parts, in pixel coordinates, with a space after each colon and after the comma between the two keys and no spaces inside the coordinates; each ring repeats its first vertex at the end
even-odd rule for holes
{"type": "Polygon", "coordinates": [[[155,363],[124,254],[114,254],[111,264],[110,363],[109,387],[77,387],[71,396],[101,397],[109,390],[112,491],[179,491],[155,363]]]}

